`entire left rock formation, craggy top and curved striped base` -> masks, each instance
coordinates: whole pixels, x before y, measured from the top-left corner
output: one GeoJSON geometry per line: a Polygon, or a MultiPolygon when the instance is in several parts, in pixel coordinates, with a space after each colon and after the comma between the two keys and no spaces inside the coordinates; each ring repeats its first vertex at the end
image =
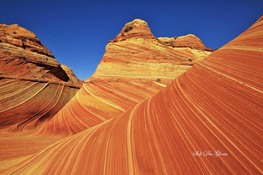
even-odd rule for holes
{"type": "Polygon", "coordinates": [[[35,129],[52,118],[81,83],[33,32],[0,24],[0,40],[0,131],[35,129]]]}

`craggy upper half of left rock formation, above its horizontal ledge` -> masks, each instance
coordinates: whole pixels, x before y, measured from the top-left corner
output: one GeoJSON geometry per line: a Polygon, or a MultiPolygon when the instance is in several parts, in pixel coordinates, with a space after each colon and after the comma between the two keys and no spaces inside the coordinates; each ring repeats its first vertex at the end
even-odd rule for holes
{"type": "Polygon", "coordinates": [[[0,77],[81,87],[78,81],[69,78],[33,32],[17,24],[0,24],[0,40],[0,77]]]}

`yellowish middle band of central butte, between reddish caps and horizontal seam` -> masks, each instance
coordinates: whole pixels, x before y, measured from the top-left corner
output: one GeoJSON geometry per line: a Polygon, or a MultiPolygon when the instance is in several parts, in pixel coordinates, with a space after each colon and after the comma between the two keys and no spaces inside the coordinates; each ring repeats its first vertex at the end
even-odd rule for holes
{"type": "Polygon", "coordinates": [[[160,76],[175,78],[211,51],[173,48],[157,39],[136,38],[109,42],[94,76],[160,76]],[[191,59],[192,61],[188,61],[191,59]]]}

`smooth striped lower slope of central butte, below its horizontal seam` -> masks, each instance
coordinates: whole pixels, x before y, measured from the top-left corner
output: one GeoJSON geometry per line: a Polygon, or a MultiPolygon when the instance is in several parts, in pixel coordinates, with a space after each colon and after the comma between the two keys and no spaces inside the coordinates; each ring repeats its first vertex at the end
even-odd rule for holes
{"type": "Polygon", "coordinates": [[[56,136],[76,134],[123,113],[172,81],[130,80],[106,82],[93,79],[84,83],[63,109],[37,132],[56,136]]]}

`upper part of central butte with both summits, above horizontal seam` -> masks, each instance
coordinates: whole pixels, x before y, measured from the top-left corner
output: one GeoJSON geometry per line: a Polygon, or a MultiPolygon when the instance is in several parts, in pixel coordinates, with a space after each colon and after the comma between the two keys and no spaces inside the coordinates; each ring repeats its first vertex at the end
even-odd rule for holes
{"type": "Polygon", "coordinates": [[[125,24],[105,50],[94,76],[174,78],[214,51],[193,34],[156,38],[140,19],[125,24]]]}

